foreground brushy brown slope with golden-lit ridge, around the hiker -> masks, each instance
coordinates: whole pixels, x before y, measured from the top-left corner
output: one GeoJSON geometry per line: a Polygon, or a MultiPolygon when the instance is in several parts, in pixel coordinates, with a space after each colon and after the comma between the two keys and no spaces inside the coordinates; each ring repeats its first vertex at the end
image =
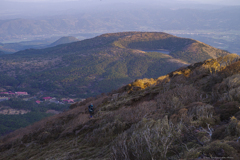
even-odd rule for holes
{"type": "Polygon", "coordinates": [[[239,81],[235,54],[139,79],[2,137],[0,159],[238,159],[239,81]]]}

